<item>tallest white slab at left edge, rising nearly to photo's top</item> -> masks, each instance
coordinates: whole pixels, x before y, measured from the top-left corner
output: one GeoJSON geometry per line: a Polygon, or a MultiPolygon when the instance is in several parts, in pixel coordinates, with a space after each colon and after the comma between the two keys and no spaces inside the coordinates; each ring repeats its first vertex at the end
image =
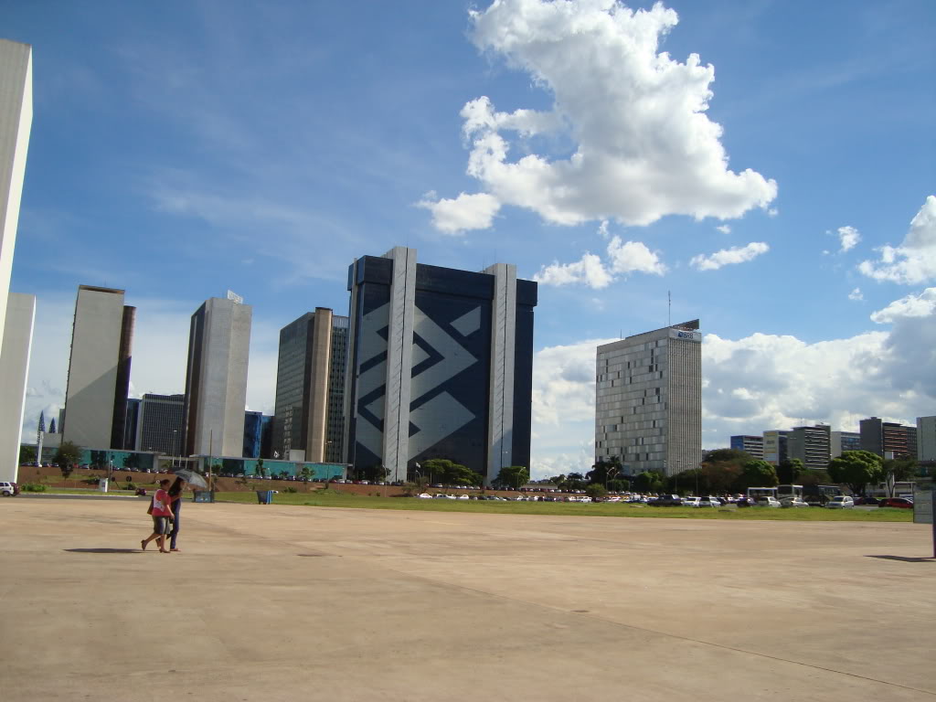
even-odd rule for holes
{"type": "Polygon", "coordinates": [[[32,125],[33,49],[28,44],[0,39],[0,339],[32,125]]]}

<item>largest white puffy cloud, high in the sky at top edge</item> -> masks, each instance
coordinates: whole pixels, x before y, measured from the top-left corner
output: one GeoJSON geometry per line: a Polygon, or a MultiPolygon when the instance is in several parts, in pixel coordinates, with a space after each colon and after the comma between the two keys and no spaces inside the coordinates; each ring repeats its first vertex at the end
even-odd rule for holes
{"type": "Polygon", "coordinates": [[[679,21],[674,10],[498,0],[470,17],[475,46],[529,74],[552,105],[500,112],[486,96],[465,105],[467,172],[490,199],[424,200],[436,227],[489,227],[503,205],[562,225],[648,225],[666,214],[726,219],[767,209],[776,197],[774,181],[727,166],[722,126],[706,114],[714,68],[696,54],[681,63],[659,50],[679,21]],[[570,139],[573,153],[536,153],[540,135],[570,139]],[[523,155],[511,157],[520,139],[523,155]],[[440,215],[440,206],[459,216],[440,215]]]}

